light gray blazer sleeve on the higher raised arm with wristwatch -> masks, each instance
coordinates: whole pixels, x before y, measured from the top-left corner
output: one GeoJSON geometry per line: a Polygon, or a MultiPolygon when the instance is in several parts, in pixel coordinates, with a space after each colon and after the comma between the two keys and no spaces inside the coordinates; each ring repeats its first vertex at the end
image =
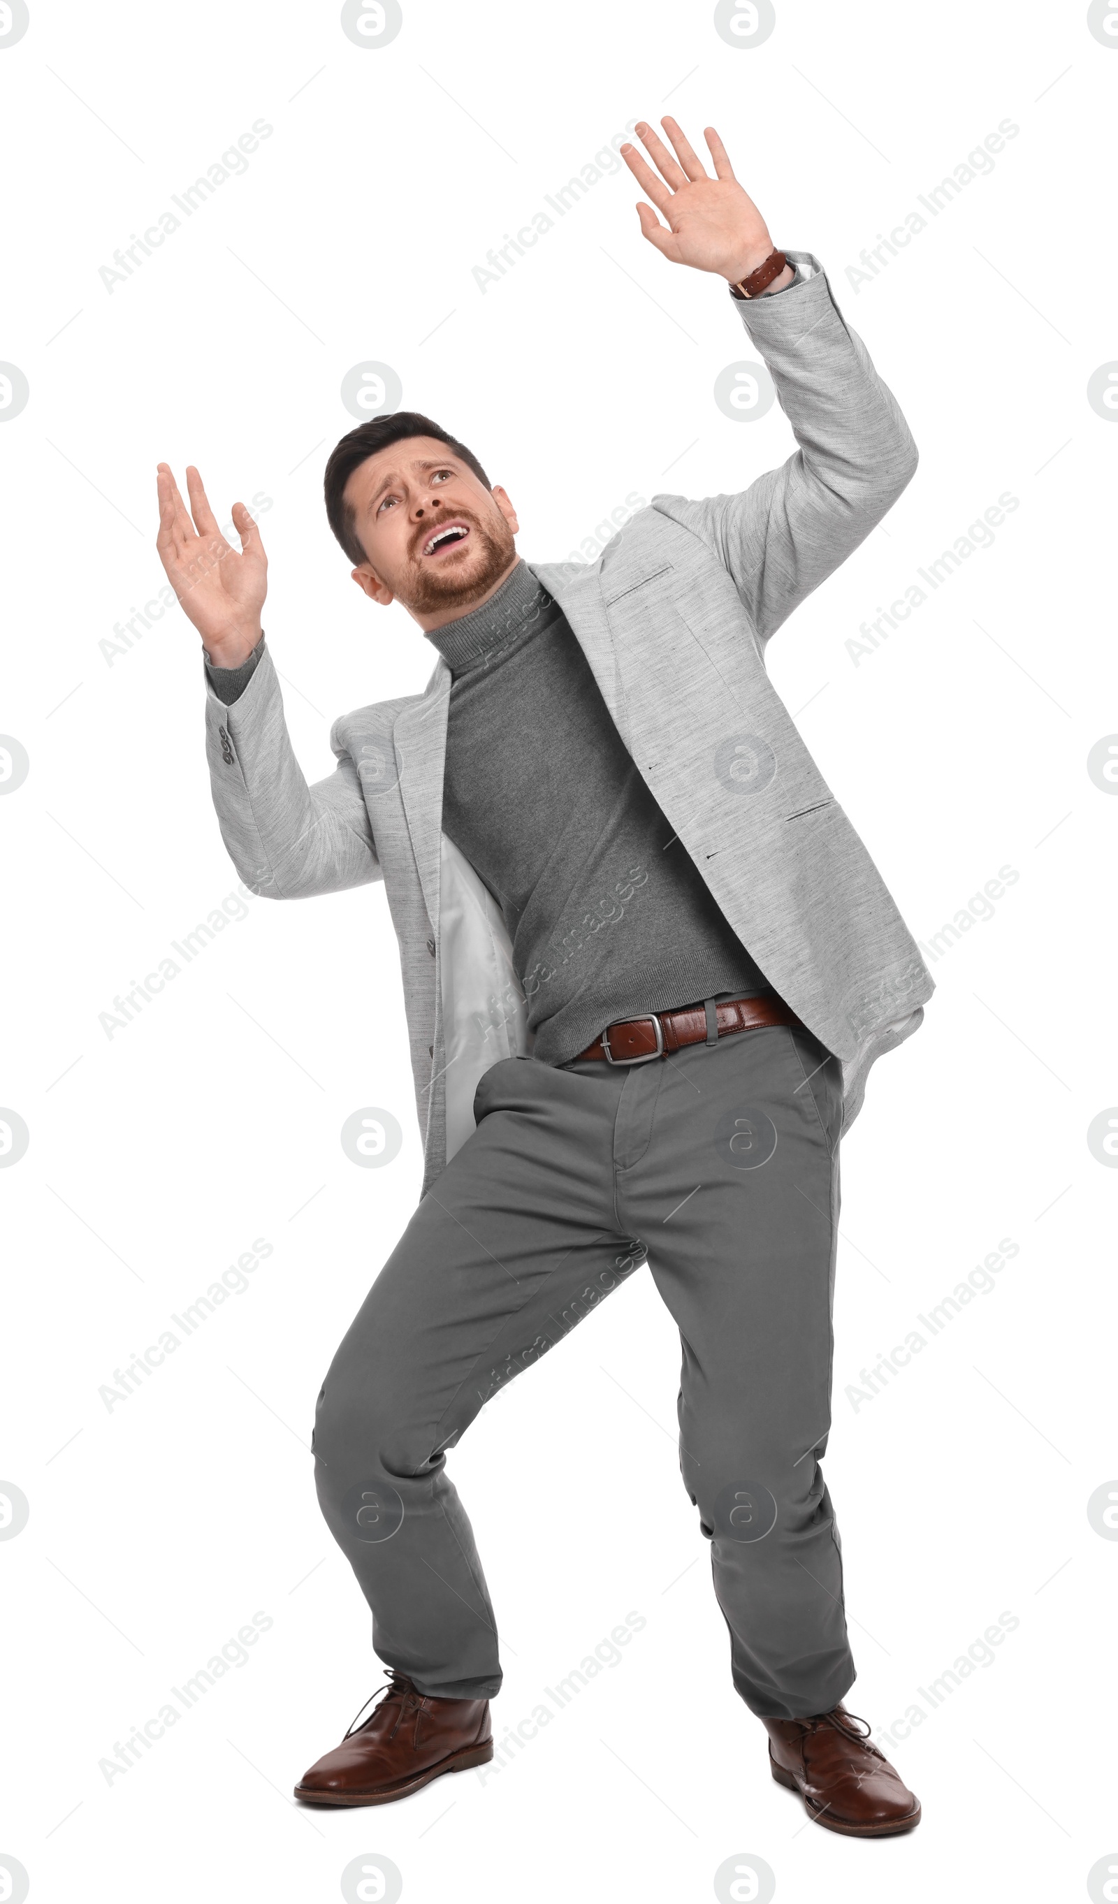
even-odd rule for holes
{"type": "Polygon", "coordinates": [[[838,310],[819,259],[785,255],[811,274],[733,305],[792,425],[794,453],[741,495],[653,497],[653,508],[699,535],[729,571],[762,647],[876,527],[918,461],[901,407],[838,310]]]}

